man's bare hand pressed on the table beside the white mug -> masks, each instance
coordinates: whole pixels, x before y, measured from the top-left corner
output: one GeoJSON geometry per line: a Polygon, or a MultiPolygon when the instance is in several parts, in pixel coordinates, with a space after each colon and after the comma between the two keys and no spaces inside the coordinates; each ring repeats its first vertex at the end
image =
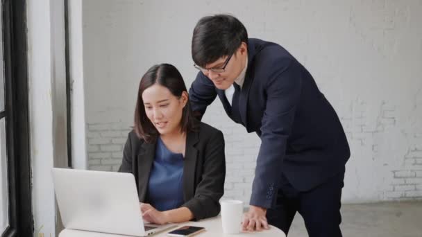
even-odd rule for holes
{"type": "Polygon", "coordinates": [[[267,218],[267,209],[262,207],[250,206],[249,211],[244,213],[242,221],[243,231],[261,231],[269,229],[267,218]]]}

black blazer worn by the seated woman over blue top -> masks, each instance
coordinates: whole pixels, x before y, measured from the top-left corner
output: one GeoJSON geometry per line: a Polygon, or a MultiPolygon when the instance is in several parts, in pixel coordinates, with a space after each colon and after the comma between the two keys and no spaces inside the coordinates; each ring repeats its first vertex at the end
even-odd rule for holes
{"type": "MultiPolygon", "coordinates": [[[[149,173],[155,158],[155,145],[129,132],[124,146],[119,172],[133,173],[140,202],[146,199],[149,173]]],[[[196,220],[217,216],[219,200],[224,193],[226,159],[223,133],[210,125],[200,123],[198,132],[186,137],[183,168],[183,200],[196,220]]]]}

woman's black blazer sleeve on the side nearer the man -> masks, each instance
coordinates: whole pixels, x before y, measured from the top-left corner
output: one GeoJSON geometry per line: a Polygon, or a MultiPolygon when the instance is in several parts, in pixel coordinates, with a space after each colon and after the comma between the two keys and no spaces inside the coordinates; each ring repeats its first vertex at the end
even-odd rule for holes
{"type": "Polygon", "coordinates": [[[202,180],[196,186],[194,198],[183,204],[194,214],[195,220],[217,216],[220,212],[219,200],[224,193],[226,158],[224,155],[223,133],[210,138],[205,148],[202,180]]]}

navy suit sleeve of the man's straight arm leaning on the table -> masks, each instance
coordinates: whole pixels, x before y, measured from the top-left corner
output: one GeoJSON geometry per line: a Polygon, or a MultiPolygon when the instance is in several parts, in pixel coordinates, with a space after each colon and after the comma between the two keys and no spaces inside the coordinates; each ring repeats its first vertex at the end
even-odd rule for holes
{"type": "Polygon", "coordinates": [[[267,106],[260,128],[261,146],[253,179],[251,205],[268,209],[276,201],[287,137],[292,130],[301,95],[301,80],[298,62],[291,61],[285,70],[278,71],[267,81],[267,106]]]}

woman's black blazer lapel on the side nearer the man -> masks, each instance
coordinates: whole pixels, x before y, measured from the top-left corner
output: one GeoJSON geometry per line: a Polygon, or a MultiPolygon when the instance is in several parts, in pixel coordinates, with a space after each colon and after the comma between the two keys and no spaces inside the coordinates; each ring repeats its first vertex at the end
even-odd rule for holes
{"type": "Polygon", "coordinates": [[[185,164],[183,166],[183,198],[185,201],[193,198],[195,195],[195,173],[198,150],[194,146],[198,141],[198,132],[189,132],[187,134],[185,164]]]}

